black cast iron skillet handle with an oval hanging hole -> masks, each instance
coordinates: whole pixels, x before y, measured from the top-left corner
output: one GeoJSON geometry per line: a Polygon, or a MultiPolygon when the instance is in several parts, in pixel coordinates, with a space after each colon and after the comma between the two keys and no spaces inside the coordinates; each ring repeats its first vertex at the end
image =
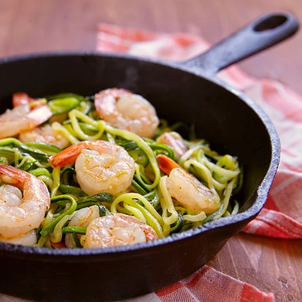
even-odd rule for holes
{"type": "Polygon", "coordinates": [[[252,21],[233,35],[213,45],[201,55],[181,62],[192,71],[214,74],[263,49],[292,36],[298,29],[297,19],[288,12],[273,12],[252,21]]]}

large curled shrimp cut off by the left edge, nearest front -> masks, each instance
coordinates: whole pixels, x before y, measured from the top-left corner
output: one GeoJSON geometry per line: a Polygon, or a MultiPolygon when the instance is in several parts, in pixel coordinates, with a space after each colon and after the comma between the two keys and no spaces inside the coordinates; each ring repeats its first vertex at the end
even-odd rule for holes
{"type": "Polygon", "coordinates": [[[0,180],[9,183],[0,187],[0,236],[19,237],[38,228],[50,206],[43,181],[4,164],[0,164],[0,180]]]}

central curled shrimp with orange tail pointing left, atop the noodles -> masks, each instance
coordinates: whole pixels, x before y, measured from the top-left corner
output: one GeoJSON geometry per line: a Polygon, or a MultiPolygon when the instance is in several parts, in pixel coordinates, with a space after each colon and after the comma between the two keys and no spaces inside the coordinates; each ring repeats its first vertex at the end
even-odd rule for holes
{"type": "Polygon", "coordinates": [[[121,146],[104,140],[71,145],[49,160],[53,168],[75,163],[77,180],[88,195],[126,190],[134,175],[134,160],[121,146]]]}

